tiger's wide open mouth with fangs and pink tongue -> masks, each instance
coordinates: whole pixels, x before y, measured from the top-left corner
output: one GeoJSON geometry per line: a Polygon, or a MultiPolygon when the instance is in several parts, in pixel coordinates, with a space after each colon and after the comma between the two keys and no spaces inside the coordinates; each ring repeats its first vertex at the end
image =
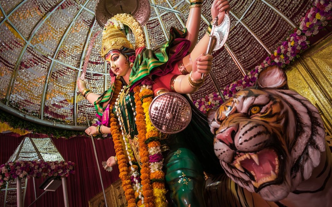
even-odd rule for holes
{"type": "Polygon", "coordinates": [[[279,180],[280,162],[277,152],[273,149],[238,153],[232,164],[239,171],[249,175],[256,192],[266,186],[265,183],[273,184],[279,180]]]}

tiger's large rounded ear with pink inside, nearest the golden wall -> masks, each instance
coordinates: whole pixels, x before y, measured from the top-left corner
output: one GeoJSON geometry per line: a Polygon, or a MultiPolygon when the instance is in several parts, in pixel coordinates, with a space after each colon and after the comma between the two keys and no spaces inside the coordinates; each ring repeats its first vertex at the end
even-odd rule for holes
{"type": "Polygon", "coordinates": [[[287,76],[279,66],[268,66],[259,72],[256,86],[261,88],[289,89],[287,76]]]}

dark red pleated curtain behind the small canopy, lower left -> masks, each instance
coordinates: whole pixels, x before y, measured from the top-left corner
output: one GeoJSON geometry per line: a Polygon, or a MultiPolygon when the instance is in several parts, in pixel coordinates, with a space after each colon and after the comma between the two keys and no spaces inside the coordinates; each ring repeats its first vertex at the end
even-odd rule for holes
{"type": "MultiPolygon", "coordinates": [[[[14,150],[25,136],[15,137],[0,133],[0,164],[8,161],[14,150]]],[[[30,137],[42,137],[29,134],[30,137]]],[[[67,178],[68,200],[70,207],[88,207],[88,201],[102,191],[95,155],[90,137],[74,137],[70,139],[52,138],[56,148],[66,161],[76,163],[76,173],[67,178]]],[[[111,173],[103,169],[101,162],[115,155],[111,139],[95,140],[99,165],[104,182],[104,188],[119,179],[119,169],[115,167],[111,173]]],[[[44,191],[38,187],[43,178],[35,179],[37,197],[44,191]]],[[[29,206],[35,200],[33,179],[28,180],[24,206],[29,206]]],[[[64,206],[62,185],[55,191],[45,193],[32,207],[62,207],[64,206]]]]}

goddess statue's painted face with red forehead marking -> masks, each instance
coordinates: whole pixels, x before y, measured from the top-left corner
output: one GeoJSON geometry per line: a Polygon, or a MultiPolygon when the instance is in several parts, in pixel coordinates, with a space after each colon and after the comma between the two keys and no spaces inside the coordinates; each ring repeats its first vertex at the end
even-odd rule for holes
{"type": "Polygon", "coordinates": [[[124,76],[130,73],[129,61],[119,50],[111,50],[105,60],[111,65],[111,70],[115,75],[124,76]]]}

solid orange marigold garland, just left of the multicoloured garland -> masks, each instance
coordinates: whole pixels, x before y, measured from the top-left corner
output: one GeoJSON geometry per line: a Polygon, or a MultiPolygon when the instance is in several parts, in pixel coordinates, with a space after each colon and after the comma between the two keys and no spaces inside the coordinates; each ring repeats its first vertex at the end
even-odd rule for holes
{"type": "Polygon", "coordinates": [[[140,87],[134,87],[134,97],[135,97],[135,106],[136,106],[136,127],[138,130],[138,142],[139,142],[139,156],[141,158],[142,167],[141,167],[141,184],[143,189],[143,196],[141,203],[138,203],[138,206],[144,204],[145,207],[153,207],[153,190],[150,183],[150,169],[149,169],[149,152],[147,144],[145,143],[146,137],[146,123],[144,117],[144,109],[140,100],[140,87]]]}

